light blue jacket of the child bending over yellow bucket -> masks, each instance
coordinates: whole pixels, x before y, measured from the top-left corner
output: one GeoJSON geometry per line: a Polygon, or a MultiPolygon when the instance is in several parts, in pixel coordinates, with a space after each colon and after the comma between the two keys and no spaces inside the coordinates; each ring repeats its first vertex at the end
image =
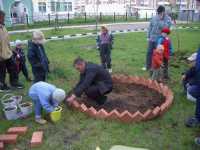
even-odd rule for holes
{"type": "Polygon", "coordinates": [[[42,107],[48,112],[53,112],[58,102],[52,99],[56,87],[52,84],[40,81],[31,86],[29,96],[34,101],[39,101],[42,107]]]}

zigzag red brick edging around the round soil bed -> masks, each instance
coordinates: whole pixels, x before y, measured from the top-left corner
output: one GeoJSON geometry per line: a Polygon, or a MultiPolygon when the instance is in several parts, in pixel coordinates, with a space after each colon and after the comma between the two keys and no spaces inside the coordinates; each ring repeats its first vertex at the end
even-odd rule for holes
{"type": "Polygon", "coordinates": [[[122,113],[120,113],[116,109],[113,109],[110,111],[110,113],[105,109],[100,109],[97,111],[94,107],[88,108],[85,104],[79,103],[77,100],[73,101],[71,106],[74,109],[79,110],[80,112],[83,112],[93,118],[133,123],[147,121],[161,116],[170,108],[173,103],[173,92],[169,89],[169,87],[162,83],[158,83],[150,79],[145,79],[143,77],[126,75],[113,75],[112,79],[113,82],[144,85],[161,93],[165,97],[165,100],[160,106],[157,106],[154,109],[148,109],[144,113],[141,113],[140,111],[130,113],[128,110],[124,110],[122,113]]]}

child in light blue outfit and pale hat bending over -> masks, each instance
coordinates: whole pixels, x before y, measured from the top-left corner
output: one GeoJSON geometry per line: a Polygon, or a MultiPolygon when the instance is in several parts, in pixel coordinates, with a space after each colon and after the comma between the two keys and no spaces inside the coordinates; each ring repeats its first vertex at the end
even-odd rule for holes
{"type": "Polygon", "coordinates": [[[45,124],[47,121],[41,117],[42,108],[49,114],[54,112],[65,99],[66,93],[52,84],[40,81],[31,86],[29,96],[35,107],[35,121],[45,124]]]}

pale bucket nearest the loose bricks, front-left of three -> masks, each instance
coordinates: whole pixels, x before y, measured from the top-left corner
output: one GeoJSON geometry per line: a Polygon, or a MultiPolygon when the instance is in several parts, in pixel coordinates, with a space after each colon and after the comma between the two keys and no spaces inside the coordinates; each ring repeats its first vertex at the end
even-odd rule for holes
{"type": "Polygon", "coordinates": [[[18,118],[17,106],[9,106],[3,109],[6,119],[15,120],[18,118]]]}

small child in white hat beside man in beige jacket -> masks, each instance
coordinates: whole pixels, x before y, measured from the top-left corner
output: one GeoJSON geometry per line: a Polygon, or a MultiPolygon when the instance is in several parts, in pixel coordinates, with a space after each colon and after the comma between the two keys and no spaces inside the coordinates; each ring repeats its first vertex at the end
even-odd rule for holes
{"type": "Polygon", "coordinates": [[[16,40],[15,44],[16,47],[13,50],[13,59],[17,66],[17,73],[19,74],[22,71],[26,80],[31,81],[26,67],[26,57],[22,48],[22,42],[20,40],[16,40]]]}

